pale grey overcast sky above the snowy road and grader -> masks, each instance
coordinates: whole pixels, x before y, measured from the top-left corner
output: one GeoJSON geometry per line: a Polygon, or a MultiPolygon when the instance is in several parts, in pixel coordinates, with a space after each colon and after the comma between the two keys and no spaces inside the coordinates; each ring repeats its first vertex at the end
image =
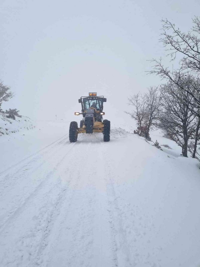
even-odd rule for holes
{"type": "Polygon", "coordinates": [[[0,79],[15,93],[2,107],[74,120],[97,91],[105,118],[123,119],[127,96],[160,83],[145,71],[165,56],[161,18],[189,30],[199,11],[199,0],[0,0],[0,79]]]}

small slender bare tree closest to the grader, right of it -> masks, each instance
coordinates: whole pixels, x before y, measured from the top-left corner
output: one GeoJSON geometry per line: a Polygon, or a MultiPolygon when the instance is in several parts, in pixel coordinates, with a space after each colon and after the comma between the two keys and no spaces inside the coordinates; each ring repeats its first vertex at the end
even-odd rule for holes
{"type": "Polygon", "coordinates": [[[140,92],[130,96],[128,98],[128,106],[133,106],[131,112],[124,111],[126,114],[130,115],[131,118],[135,119],[138,125],[139,135],[142,135],[142,125],[144,121],[144,116],[146,113],[146,94],[141,94],[140,92]]]}

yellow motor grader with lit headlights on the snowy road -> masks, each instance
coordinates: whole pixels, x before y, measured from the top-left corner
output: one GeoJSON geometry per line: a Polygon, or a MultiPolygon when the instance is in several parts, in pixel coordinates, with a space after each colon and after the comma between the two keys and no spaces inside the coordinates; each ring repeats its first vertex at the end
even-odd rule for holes
{"type": "Polygon", "coordinates": [[[69,139],[70,142],[76,142],[78,134],[93,132],[102,132],[104,136],[104,142],[110,141],[110,121],[103,120],[103,103],[106,102],[104,96],[97,96],[97,93],[89,93],[87,97],[81,97],[79,103],[81,103],[81,113],[75,112],[74,115],[83,115],[80,121],[80,127],[76,121],[70,123],[69,139]]]}

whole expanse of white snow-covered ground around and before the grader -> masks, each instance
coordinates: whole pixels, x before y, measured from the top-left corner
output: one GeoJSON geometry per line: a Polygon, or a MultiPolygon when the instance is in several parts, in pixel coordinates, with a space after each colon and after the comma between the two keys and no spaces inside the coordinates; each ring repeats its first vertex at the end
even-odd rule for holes
{"type": "Polygon", "coordinates": [[[0,138],[0,266],[200,266],[198,162],[158,132],[172,149],[68,126],[0,138]]]}

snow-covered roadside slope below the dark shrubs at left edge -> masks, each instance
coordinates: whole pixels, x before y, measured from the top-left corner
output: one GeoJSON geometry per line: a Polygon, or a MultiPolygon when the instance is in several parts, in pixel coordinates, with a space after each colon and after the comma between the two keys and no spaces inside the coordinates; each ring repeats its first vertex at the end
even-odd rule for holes
{"type": "Polygon", "coordinates": [[[0,137],[2,135],[10,135],[12,133],[21,132],[24,131],[24,129],[29,130],[34,128],[33,121],[28,117],[21,116],[20,118],[16,116],[16,119],[13,120],[7,118],[7,115],[8,114],[0,112],[0,137]]]}

